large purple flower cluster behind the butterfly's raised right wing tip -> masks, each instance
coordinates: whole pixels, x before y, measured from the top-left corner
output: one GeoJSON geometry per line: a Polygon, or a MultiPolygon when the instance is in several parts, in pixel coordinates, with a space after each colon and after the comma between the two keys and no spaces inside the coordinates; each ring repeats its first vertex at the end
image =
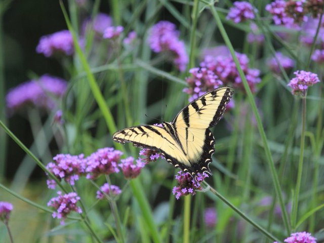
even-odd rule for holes
{"type": "MultiPolygon", "coordinates": [[[[249,68],[249,58],[245,54],[235,53],[240,67],[244,71],[252,92],[256,91],[256,85],[260,83],[260,70],[249,68]]],[[[186,78],[189,89],[184,92],[191,95],[190,101],[200,95],[217,88],[220,85],[229,85],[243,89],[242,80],[232,56],[223,52],[223,55],[204,57],[199,68],[189,70],[191,76],[186,78]]]]}

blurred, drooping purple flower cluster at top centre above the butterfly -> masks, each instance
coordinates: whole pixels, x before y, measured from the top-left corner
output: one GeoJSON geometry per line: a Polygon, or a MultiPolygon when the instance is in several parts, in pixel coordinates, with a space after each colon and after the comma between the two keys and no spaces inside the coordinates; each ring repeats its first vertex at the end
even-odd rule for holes
{"type": "Polygon", "coordinates": [[[171,52],[174,64],[181,72],[185,71],[189,58],[173,23],[160,21],[155,24],[150,30],[148,43],[153,52],[171,52]]]}

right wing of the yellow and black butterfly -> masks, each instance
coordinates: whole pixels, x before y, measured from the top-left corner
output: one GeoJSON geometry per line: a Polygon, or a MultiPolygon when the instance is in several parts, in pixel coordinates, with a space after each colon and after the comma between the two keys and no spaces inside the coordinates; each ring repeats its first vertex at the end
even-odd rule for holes
{"type": "Polygon", "coordinates": [[[190,164],[183,167],[193,177],[197,173],[211,174],[208,166],[212,162],[215,139],[209,128],[221,119],[232,95],[230,87],[208,92],[184,107],[172,122],[190,164]]]}

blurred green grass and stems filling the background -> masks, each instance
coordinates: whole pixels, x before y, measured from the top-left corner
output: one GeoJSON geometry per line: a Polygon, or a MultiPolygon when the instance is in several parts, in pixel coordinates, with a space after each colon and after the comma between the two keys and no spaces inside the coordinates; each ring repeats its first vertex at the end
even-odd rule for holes
{"type": "MultiPolygon", "coordinates": [[[[264,10],[266,3],[254,2],[256,17],[250,22],[264,36],[262,44],[247,41],[249,21],[234,24],[226,19],[230,1],[110,1],[109,12],[101,11],[112,17],[115,26],[124,26],[114,41],[98,41],[93,29],[82,28],[85,15],[94,18],[100,12],[100,1],[82,7],[72,0],[66,5],[60,2],[74,46],[72,57],[58,58],[68,80],[64,97],[45,119],[44,111],[36,107],[21,112],[21,119],[27,119],[33,131],[30,147],[9,129],[11,119],[3,115],[4,106],[0,116],[0,135],[6,133],[6,139],[13,139],[17,149],[26,153],[14,180],[6,180],[4,168],[11,165],[2,158],[7,140],[1,136],[0,200],[14,205],[9,221],[14,242],[283,242],[298,231],[323,241],[322,83],[303,98],[293,96],[287,87],[298,69],[322,79],[320,64],[311,60],[316,38],[321,36],[320,25],[310,47],[304,46],[299,31],[273,25],[264,10]],[[178,26],[189,57],[184,72],[170,61],[172,56],[155,54],[147,44],[150,28],[160,20],[178,26]],[[138,37],[130,48],[123,39],[131,30],[138,37]],[[282,37],[282,33],[289,36],[282,37]],[[75,185],[47,169],[55,154],[88,156],[104,147],[136,159],[137,148],[114,143],[111,135],[128,126],[171,121],[188,103],[183,89],[189,69],[199,66],[206,48],[221,45],[233,58],[241,86],[234,89],[235,106],[228,108],[213,130],[213,176],[201,191],[175,199],[176,170],[163,159],[146,165],[135,179],[113,173],[97,179],[80,177],[75,185]],[[249,57],[251,68],[261,70],[256,90],[251,90],[235,51],[249,57]],[[294,59],[293,70],[276,60],[280,72],[270,71],[267,60],[275,51],[294,59]],[[63,123],[55,121],[57,109],[63,112],[63,123]],[[83,212],[68,215],[64,225],[53,220],[54,211],[47,203],[57,196],[56,191],[47,188],[45,176],[39,177],[37,185],[28,182],[35,167],[55,180],[57,190],[77,192],[77,205],[83,212]],[[121,194],[97,199],[96,191],[105,182],[118,185],[121,194]],[[206,222],[207,208],[217,213],[212,226],[206,222]],[[27,234],[21,230],[26,222],[31,222],[27,234]]],[[[1,20],[0,16],[0,48],[5,49],[1,20]]],[[[2,60],[0,56],[0,78],[6,67],[2,60]]],[[[5,102],[4,89],[0,90],[0,100],[5,102]]],[[[0,241],[8,241],[5,225],[0,225],[0,232],[0,241]]]]}

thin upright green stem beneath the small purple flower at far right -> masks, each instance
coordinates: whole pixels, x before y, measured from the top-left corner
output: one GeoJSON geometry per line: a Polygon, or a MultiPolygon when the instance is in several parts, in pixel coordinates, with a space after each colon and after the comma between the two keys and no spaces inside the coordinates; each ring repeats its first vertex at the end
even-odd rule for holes
{"type": "Polygon", "coordinates": [[[302,133],[300,138],[300,154],[299,154],[299,163],[298,163],[298,172],[297,172],[297,182],[296,189],[294,194],[294,205],[292,210],[292,227],[295,229],[297,214],[298,214],[298,199],[300,193],[300,185],[302,181],[303,174],[303,163],[304,163],[304,149],[305,149],[305,129],[306,129],[306,97],[302,97],[302,133]]]}

